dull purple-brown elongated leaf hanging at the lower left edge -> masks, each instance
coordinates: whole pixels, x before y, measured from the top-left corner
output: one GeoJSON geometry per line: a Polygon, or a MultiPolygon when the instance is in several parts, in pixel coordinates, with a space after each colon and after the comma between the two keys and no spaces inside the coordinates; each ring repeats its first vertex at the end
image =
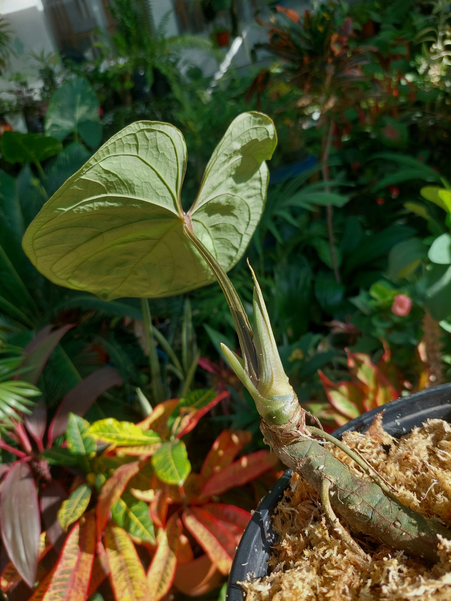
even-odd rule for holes
{"type": "Polygon", "coordinates": [[[36,485],[28,463],[14,463],[4,479],[0,527],[8,557],[32,588],[39,559],[41,520],[36,485]]]}

